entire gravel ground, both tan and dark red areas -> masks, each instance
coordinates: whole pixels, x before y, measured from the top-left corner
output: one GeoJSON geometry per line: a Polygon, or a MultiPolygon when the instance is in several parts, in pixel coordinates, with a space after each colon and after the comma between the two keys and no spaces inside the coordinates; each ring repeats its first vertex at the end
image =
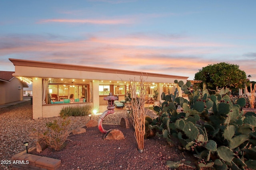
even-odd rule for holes
{"type": "MultiPolygon", "coordinates": [[[[152,110],[147,115],[155,117],[152,110]]],[[[98,120],[100,115],[92,115],[98,120]]],[[[134,129],[121,129],[120,120],[127,117],[125,109],[115,109],[114,114],[104,118],[104,129],[120,129],[125,139],[120,141],[102,140],[98,127],[86,128],[87,132],[70,136],[66,147],[60,151],[46,149],[34,153],[42,156],[57,158],[62,161],[60,170],[167,170],[166,161],[192,162],[176,170],[194,170],[196,158],[188,153],[181,152],[178,147],[170,147],[163,138],[157,136],[144,140],[144,152],[139,153],[134,137],[134,129]],[[108,124],[108,125],[107,125],[108,124]]],[[[23,102],[7,108],[0,108],[0,161],[11,160],[12,155],[26,150],[23,143],[28,142],[28,147],[35,147],[36,141],[31,133],[46,131],[46,123],[60,119],[59,117],[32,119],[32,105],[23,102]]],[[[70,130],[85,125],[88,116],[69,117],[70,130]]],[[[172,139],[178,145],[176,139],[172,139]]],[[[0,164],[0,170],[11,170],[12,166],[0,164]]],[[[204,168],[207,170],[210,168],[204,168]]]]}

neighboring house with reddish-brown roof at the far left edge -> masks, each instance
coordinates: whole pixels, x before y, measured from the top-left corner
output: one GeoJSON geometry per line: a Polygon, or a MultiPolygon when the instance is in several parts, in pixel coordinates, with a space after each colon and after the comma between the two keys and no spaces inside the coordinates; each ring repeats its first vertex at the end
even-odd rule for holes
{"type": "Polygon", "coordinates": [[[0,71],[0,104],[23,100],[23,87],[28,87],[13,76],[14,71],[0,71]]]}

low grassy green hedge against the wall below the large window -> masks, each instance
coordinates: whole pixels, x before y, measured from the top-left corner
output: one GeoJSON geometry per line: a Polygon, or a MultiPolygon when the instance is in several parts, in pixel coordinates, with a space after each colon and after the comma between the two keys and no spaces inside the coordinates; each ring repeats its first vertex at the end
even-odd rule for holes
{"type": "Polygon", "coordinates": [[[92,112],[92,104],[83,106],[67,106],[60,111],[60,116],[84,116],[92,112]]]}

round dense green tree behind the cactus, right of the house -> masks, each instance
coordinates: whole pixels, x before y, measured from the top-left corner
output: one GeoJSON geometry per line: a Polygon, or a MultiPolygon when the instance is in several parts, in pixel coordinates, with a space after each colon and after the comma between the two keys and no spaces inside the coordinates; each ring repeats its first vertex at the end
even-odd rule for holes
{"type": "Polygon", "coordinates": [[[209,64],[195,74],[195,80],[202,80],[208,89],[244,88],[246,73],[238,65],[228,63],[209,64]]]}

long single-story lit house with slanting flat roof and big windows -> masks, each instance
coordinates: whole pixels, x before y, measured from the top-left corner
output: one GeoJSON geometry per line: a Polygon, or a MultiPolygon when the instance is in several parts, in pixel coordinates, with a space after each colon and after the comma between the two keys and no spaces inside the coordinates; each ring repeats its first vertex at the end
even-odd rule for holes
{"type": "MultiPolygon", "coordinates": [[[[110,92],[124,100],[130,89],[130,80],[140,81],[143,76],[148,97],[158,91],[174,93],[182,90],[174,80],[186,82],[188,77],[131,70],[118,70],[90,66],[59,64],[20,59],[9,59],[15,66],[13,74],[21,80],[32,83],[33,119],[58,116],[66,106],[92,104],[97,112],[106,110],[107,101],[103,100],[110,92]]],[[[139,85],[139,84],[138,84],[139,85]]],[[[138,94],[139,95],[139,94],[138,94]]]]}

